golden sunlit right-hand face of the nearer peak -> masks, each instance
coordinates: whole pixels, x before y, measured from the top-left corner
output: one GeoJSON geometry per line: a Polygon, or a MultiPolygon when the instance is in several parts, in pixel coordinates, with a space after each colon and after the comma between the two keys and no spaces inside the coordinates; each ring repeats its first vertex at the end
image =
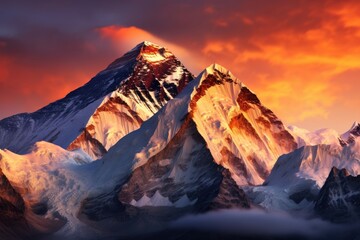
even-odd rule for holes
{"type": "Polygon", "coordinates": [[[239,184],[259,184],[276,158],[296,148],[275,114],[229,70],[212,64],[198,77],[191,115],[215,161],[239,184]]]}

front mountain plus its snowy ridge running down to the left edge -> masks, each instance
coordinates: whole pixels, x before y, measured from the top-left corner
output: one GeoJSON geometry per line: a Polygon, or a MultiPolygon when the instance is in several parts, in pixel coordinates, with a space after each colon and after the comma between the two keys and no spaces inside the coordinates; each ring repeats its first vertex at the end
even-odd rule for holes
{"type": "Polygon", "coordinates": [[[66,220],[61,233],[69,235],[249,208],[239,186],[261,184],[277,157],[296,147],[274,113],[213,64],[98,161],[38,142],[25,155],[1,151],[0,168],[26,190],[33,211],[66,220]]]}

